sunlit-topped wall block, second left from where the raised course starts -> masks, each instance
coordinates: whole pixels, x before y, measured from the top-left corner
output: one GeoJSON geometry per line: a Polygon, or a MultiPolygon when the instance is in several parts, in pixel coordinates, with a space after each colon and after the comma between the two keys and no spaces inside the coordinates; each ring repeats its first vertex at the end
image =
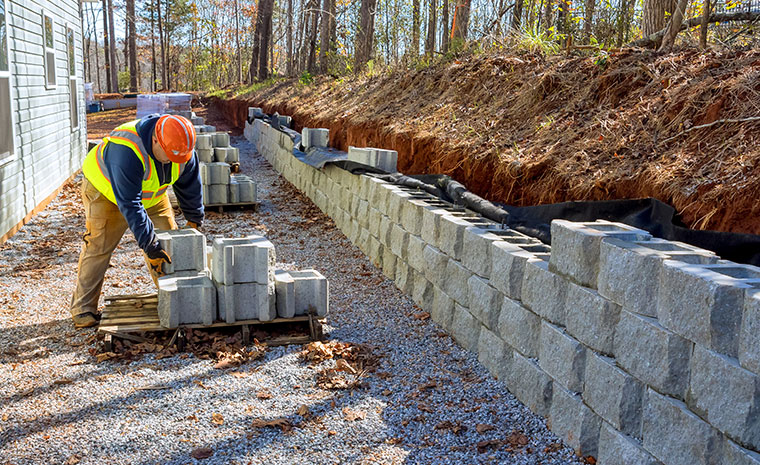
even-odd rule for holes
{"type": "Polygon", "coordinates": [[[511,299],[522,300],[525,264],[538,259],[532,253],[508,242],[494,241],[489,246],[491,285],[511,299]]]}

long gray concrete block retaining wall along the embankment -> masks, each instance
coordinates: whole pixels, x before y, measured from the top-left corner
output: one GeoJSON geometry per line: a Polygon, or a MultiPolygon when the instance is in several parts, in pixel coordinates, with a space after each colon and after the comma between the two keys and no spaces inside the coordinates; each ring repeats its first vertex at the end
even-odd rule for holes
{"type": "Polygon", "coordinates": [[[552,247],[426,193],[246,137],[399,289],[601,464],[760,464],[760,269],[619,223],[552,247]]]}

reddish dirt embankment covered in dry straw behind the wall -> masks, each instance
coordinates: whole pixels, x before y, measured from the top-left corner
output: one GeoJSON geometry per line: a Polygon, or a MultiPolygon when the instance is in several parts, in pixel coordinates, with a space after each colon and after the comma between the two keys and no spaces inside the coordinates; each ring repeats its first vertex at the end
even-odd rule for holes
{"type": "Polygon", "coordinates": [[[282,81],[216,100],[399,152],[513,205],[656,197],[698,229],[760,234],[760,51],[593,57],[484,53],[368,78],[282,81]],[[709,125],[695,128],[699,125],[709,125]]]}

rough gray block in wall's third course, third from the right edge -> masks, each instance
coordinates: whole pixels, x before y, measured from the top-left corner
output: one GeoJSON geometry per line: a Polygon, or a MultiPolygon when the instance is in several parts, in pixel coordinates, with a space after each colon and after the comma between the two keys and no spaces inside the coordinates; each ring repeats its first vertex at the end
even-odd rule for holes
{"type": "Polygon", "coordinates": [[[641,439],[645,386],[615,365],[615,360],[589,351],[583,400],[617,430],[641,439]]]}

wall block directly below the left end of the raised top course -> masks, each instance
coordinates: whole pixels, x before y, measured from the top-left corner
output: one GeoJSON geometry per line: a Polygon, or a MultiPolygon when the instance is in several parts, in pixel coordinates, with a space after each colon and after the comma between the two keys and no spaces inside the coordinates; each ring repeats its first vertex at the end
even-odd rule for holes
{"type": "Polygon", "coordinates": [[[520,291],[522,302],[537,315],[564,326],[568,284],[565,278],[549,271],[548,263],[527,261],[520,291]]]}

